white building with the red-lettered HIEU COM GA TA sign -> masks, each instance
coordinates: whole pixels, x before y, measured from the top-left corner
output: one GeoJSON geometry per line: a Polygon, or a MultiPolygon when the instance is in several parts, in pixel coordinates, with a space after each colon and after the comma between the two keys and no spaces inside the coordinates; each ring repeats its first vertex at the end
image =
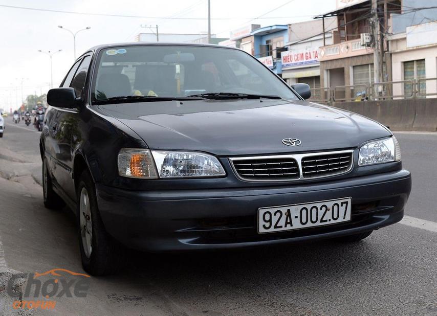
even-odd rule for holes
{"type": "MultiPolygon", "coordinates": [[[[337,18],[325,19],[326,26],[336,27],[337,18]]],[[[282,79],[289,84],[307,83],[313,88],[312,94],[320,91],[319,48],[333,44],[333,33],[323,32],[322,20],[310,20],[288,25],[287,51],[281,52],[282,79]]]]}

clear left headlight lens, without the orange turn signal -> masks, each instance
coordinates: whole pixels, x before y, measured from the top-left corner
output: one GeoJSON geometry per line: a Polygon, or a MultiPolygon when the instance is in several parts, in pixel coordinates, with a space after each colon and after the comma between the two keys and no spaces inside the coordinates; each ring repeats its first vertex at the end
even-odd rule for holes
{"type": "Polygon", "coordinates": [[[226,175],[216,157],[190,151],[152,150],[160,178],[226,175]]]}

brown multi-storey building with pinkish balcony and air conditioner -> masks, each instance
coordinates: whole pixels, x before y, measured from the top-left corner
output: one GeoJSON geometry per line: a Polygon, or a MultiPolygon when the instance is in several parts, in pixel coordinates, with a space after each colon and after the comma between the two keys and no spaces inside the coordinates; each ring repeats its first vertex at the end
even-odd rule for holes
{"type": "MultiPolygon", "coordinates": [[[[378,0],[381,32],[387,33],[388,16],[401,13],[401,0],[378,0]]],[[[337,9],[316,16],[322,20],[323,33],[332,32],[333,43],[320,48],[320,82],[331,87],[334,99],[351,100],[357,93],[366,91],[374,82],[373,49],[362,46],[360,35],[371,33],[370,0],[337,0],[337,9]],[[330,27],[326,20],[337,18],[337,26],[330,27]],[[337,88],[336,88],[337,87],[337,88]]],[[[384,40],[384,81],[391,81],[391,60],[384,40]]]]}

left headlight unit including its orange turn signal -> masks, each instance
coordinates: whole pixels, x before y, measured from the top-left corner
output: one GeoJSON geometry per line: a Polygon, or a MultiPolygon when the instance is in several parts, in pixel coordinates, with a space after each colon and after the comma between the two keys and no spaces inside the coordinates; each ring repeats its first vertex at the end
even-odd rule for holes
{"type": "Polygon", "coordinates": [[[226,175],[216,157],[206,153],[130,148],[118,153],[118,174],[148,179],[226,175]]]}

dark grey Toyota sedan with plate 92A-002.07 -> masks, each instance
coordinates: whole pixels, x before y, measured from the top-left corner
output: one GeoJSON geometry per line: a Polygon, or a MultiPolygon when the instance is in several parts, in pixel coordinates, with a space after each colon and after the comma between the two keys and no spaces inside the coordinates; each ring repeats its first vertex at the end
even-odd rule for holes
{"type": "Polygon", "coordinates": [[[238,49],[95,47],[48,93],[45,205],[74,210],[93,275],[125,247],[353,242],[400,221],[411,176],[395,136],[310,96],[238,49]]]}

